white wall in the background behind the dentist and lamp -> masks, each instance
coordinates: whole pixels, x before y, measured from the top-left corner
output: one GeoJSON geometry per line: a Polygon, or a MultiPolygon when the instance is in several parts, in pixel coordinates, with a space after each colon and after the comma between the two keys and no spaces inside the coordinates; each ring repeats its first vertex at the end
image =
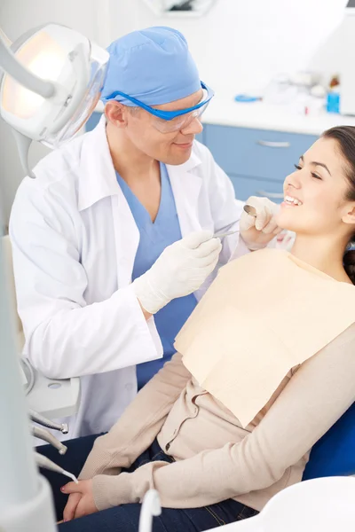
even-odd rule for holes
{"type": "MultiPolygon", "coordinates": [[[[244,90],[262,91],[273,74],[306,67],[319,43],[334,31],[344,4],[346,0],[217,0],[205,17],[188,19],[157,17],[142,0],[0,0],[0,25],[14,40],[30,27],[59,22],[103,46],[134,29],[177,27],[190,44],[201,78],[232,98],[244,90]]],[[[327,51],[339,48],[341,30],[331,39],[327,51]]],[[[333,68],[322,53],[312,61],[333,68]]],[[[35,145],[31,163],[43,153],[45,149],[35,145]]],[[[7,216],[22,170],[2,121],[0,176],[7,216]]]]}

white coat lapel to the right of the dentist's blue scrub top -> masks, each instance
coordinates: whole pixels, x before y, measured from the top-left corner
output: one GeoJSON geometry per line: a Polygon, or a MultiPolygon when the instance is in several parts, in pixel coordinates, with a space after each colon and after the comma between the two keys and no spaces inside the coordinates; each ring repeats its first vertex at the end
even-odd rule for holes
{"type": "Polygon", "coordinates": [[[202,178],[195,173],[201,160],[192,155],[183,165],[167,165],[171,189],[177,207],[177,217],[183,237],[193,231],[201,230],[198,200],[201,192],[202,178]]]}

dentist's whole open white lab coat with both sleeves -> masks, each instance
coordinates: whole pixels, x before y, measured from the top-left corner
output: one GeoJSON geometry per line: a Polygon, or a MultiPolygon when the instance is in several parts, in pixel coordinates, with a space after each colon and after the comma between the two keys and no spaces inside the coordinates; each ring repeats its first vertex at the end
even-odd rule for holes
{"type": "MultiPolygon", "coordinates": [[[[68,437],[113,426],[137,393],[135,364],[162,356],[154,318],[146,322],[130,286],[139,231],[105,125],[103,117],[39,162],[36,179],[20,184],[10,223],[24,355],[50,378],[81,377],[68,437]]],[[[183,236],[238,223],[233,186],[205,146],[195,142],[185,164],[167,168],[183,236]]],[[[221,263],[238,239],[225,239],[221,263]]]]}

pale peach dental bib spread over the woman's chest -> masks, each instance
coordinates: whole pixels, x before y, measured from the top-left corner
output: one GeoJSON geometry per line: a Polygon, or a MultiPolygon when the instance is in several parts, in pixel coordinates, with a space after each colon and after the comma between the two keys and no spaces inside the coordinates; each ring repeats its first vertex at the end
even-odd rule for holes
{"type": "Polygon", "coordinates": [[[355,286],[288,252],[263,249],[219,270],[175,348],[245,427],[293,367],[354,322],[355,286]]]}

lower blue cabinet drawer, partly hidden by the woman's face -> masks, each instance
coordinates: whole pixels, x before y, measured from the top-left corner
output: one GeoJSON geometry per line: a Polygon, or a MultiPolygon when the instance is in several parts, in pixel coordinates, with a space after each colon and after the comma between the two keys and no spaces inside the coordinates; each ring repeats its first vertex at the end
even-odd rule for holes
{"type": "Polygon", "coordinates": [[[256,179],[249,176],[229,177],[233,183],[237,200],[246,201],[249,196],[269,198],[274,203],[280,203],[283,200],[283,183],[281,182],[256,179]]]}

